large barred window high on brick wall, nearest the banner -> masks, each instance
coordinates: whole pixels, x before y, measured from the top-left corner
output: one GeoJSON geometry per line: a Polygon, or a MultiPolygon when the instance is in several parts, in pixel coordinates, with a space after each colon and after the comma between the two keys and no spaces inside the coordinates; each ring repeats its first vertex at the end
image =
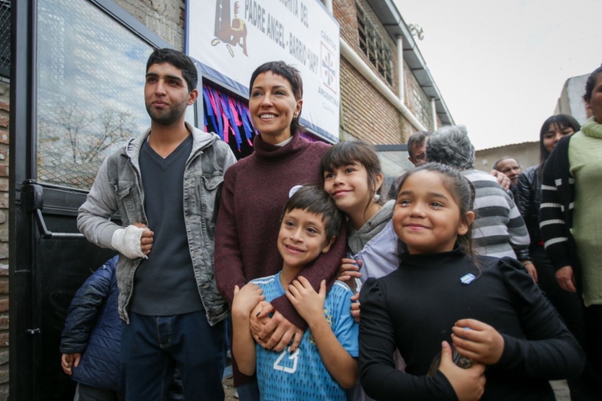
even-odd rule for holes
{"type": "Polygon", "coordinates": [[[379,74],[390,85],[393,85],[393,61],[392,53],[385,39],[376,30],[374,24],[360,4],[355,3],[358,10],[358,34],[360,38],[360,49],[366,54],[370,63],[376,67],[379,74]]]}

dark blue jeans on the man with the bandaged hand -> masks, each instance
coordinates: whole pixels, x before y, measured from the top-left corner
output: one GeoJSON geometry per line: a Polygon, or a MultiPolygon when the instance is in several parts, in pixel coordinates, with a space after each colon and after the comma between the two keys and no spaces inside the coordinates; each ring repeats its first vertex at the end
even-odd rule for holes
{"type": "Polygon", "coordinates": [[[175,367],[184,400],[223,400],[226,364],[223,321],[209,326],[205,312],[144,316],[130,312],[122,330],[122,369],[127,401],[166,400],[175,367]]]}

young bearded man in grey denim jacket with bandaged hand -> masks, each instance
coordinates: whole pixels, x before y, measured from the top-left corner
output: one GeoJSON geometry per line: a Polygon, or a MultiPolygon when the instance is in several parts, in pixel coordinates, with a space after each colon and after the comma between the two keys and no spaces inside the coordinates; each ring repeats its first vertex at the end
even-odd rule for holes
{"type": "Polygon", "coordinates": [[[117,265],[126,400],[162,400],[175,367],[186,400],[223,400],[228,305],[214,282],[214,212],[226,143],[184,121],[196,68],[176,50],[147,62],[151,126],[103,162],[78,228],[117,265]],[[110,221],[119,212],[122,226],[110,221]]]}

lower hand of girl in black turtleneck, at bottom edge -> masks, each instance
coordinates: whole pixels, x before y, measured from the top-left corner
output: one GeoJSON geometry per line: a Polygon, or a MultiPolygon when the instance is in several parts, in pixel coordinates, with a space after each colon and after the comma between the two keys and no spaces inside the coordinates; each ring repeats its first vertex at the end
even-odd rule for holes
{"type": "Polygon", "coordinates": [[[485,365],[475,363],[469,369],[455,365],[450,345],[446,341],[441,344],[439,370],[452,385],[459,401],[478,400],[485,392],[485,365]]]}

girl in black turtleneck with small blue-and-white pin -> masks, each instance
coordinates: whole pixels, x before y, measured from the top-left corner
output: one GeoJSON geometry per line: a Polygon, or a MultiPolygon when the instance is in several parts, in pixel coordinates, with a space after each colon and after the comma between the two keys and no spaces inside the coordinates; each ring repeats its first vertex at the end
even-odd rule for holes
{"type": "Polygon", "coordinates": [[[360,379],[370,397],[553,401],[548,380],[582,370],[580,347],[523,266],[472,255],[472,201],[469,182],[447,166],[402,180],[393,224],[408,251],[360,295],[360,379]],[[450,340],[472,367],[454,365],[450,340]],[[395,370],[395,347],[405,372],[395,370]],[[439,370],[427,375],[439,351],[439,370]]]}

